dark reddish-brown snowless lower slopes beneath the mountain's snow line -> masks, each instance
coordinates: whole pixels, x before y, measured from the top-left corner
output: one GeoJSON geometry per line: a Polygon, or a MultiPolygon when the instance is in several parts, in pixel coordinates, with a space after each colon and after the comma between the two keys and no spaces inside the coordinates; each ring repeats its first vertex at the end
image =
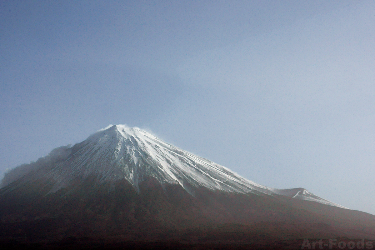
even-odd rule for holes
{"type": "Polygon", "coordinates": [[[192,196],[153,178],[139,193],[127,181],[93,188],[95,180],[53,194],[42,180],[1,189],[2,249],[301,249],[305,238],[375,239],[375,216],[360,211],[261,193],[192,196]]]}

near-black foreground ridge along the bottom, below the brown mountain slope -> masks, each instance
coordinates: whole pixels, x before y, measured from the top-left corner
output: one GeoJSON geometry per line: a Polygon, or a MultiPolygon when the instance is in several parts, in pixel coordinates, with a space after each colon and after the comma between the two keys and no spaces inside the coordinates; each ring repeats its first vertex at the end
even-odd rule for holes
{"type": "MultiPolygon", "coordinates": [[[[321,239],[313,239],[311,242],[318,242],[321,239]]],[[[349,240],[347,238],[339,238],[340,242],[344,242],[345,245],[350,244],[350,242],[358,243],[365,239],[354,239],[349,240]]],[[[246,241],[243,242],[231,242],[231,241],[220,241],[216,243],[208,242],[208,243],[187,243],[183,241],[127,241],[127,242],[119,242],[119,243],[110,243],[105,240],[95,240],[92,238],[64,238],[61,241],[54,242],[54,243],[20,243],[18,241],[7,241],[1,242],[0,249],[25,249],[25,250],[58,250],[58,249],[72,249],[72,250],[80,250],[80,249],[113,249],[113,250],[120,250],[120,249],[186,249],[186,250],[225,250],[225,249],[237,249],[237,250],[275,250],[275,249],[373,249],[373,247],[368,247],[365,245],[362,248],[362,245],[359,247],[355,246],[354,248],[342,247],[333,245],[332,247],[324,246],[323,248],[319,248],[319,245],[316,244],[315,247],[301,247],[303,246],[304,240],[279,240],[279,241],[261,241],[259,243],[248,243],[246,241]]],[[[322,240],[324,243],[329,243],[329,239],[322,240]]],[[[365,242],[369,242],[365,240],[365,242]]],[[[371,241],[373,242],[373,241],[371,241]]],[[[351,246],[351,245],[350,245],[351,246]]],[[[369,246],[372,246],[369,245],[369,246]]]]}

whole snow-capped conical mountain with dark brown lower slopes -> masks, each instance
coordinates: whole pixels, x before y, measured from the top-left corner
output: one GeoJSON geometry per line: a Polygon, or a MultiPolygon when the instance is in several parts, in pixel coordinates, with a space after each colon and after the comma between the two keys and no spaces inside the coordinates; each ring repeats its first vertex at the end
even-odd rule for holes
{"type": "Polygon", "coordinates": [[[13,169],[2,180],[0,204],[7,246],[58,248],[68,239],[82,248],[155,241],[256,247],[261,237],[280,248],[285,238],[375,238],[371,214],[303,188],[262,186],[123,125],[13,169]]]}

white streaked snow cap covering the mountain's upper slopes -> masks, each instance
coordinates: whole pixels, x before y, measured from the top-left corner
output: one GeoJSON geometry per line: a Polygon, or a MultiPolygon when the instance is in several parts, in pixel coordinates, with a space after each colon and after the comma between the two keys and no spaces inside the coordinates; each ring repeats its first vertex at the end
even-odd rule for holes
{"type": "Polygon", "coordinates": [[[50,190],[52,193],[78,176],[85,179],[97,174],[98,184],[125,178],[136,189],[138,183],[148,176],[160,183],[179,184],[192,194],[194,188],[205,187],[227,192],[278,194],[342,207],[302,188],[273,189],[246,180],[223,166],[167,144],[148,132],[124,125],[99,130],[72,147],[72,153],[66,160],[39,169],[36,174],[54,181],[55,185],[50,190]]]}

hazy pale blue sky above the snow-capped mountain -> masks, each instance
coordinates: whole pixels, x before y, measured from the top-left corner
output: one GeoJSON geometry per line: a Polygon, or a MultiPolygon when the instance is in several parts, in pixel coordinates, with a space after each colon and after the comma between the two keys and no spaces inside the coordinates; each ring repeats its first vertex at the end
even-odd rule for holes
{"type": "Polygon", "coordinates": [[[375,214],[374,1],[1,1],[0,176],[108,124],[375,214]]]}

